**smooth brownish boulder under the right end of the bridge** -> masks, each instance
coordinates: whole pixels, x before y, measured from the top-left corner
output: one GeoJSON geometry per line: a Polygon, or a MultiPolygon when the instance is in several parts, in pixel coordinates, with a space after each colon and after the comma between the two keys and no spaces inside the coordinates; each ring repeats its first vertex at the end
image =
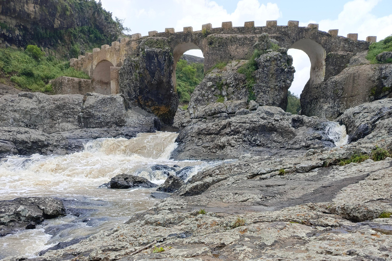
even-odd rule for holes
{"type": "Polygon", "coordinates": [[[336,119],[347,109],[392,97],[392,65],[345,68],[321,83],[309,81],[301,94],[301,114],[336,119]]]}

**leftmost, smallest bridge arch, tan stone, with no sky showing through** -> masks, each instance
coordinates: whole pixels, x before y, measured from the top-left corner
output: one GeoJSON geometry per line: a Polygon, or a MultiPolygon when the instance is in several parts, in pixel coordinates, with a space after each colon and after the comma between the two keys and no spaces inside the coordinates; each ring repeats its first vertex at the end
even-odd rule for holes
{"type": "Polygon", "coordinates": [[[111,94],[110,67],[114,67],[108,60],[99,62],[92,74],[92,87],[95,92],[101,94],[111,94]]]}

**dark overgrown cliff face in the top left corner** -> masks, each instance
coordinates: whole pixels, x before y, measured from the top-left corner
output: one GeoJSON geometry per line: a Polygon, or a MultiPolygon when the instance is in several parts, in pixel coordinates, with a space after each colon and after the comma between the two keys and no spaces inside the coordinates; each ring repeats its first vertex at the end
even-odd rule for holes
{"type": "Polygon", "coordinates": [[[36,44],[48,53],[64,56],[69,51],[77,56],[115,41],[120,34],[111,13],[94,0],[0,2],[1,47],[36,44]]]}

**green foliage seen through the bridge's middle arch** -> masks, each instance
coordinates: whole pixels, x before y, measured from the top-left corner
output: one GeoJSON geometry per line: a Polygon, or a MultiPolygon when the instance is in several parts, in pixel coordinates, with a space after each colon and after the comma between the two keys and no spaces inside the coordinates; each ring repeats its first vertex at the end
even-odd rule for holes
{"type": "Polygon", "coordinates": [[[200,84],[204,77],[204,65],[202,63],[188,64],[185,60],[179,60],[176,68],[177,93],[180,103],[187,103],[194,87],[200,84]]]}

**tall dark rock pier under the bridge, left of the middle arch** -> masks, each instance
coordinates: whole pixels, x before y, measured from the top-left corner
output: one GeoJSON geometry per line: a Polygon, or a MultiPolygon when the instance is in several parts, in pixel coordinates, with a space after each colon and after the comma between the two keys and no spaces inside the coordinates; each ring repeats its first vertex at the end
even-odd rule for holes
{"type": "Polygon", "coordinates": [[[172,125],[178,107],[173,83],[174,58],[168,40],[149,37],[139,45],[137,56],[125,60],[119,71],[119,88],[131,105],[139,106],[172,125]]]}

